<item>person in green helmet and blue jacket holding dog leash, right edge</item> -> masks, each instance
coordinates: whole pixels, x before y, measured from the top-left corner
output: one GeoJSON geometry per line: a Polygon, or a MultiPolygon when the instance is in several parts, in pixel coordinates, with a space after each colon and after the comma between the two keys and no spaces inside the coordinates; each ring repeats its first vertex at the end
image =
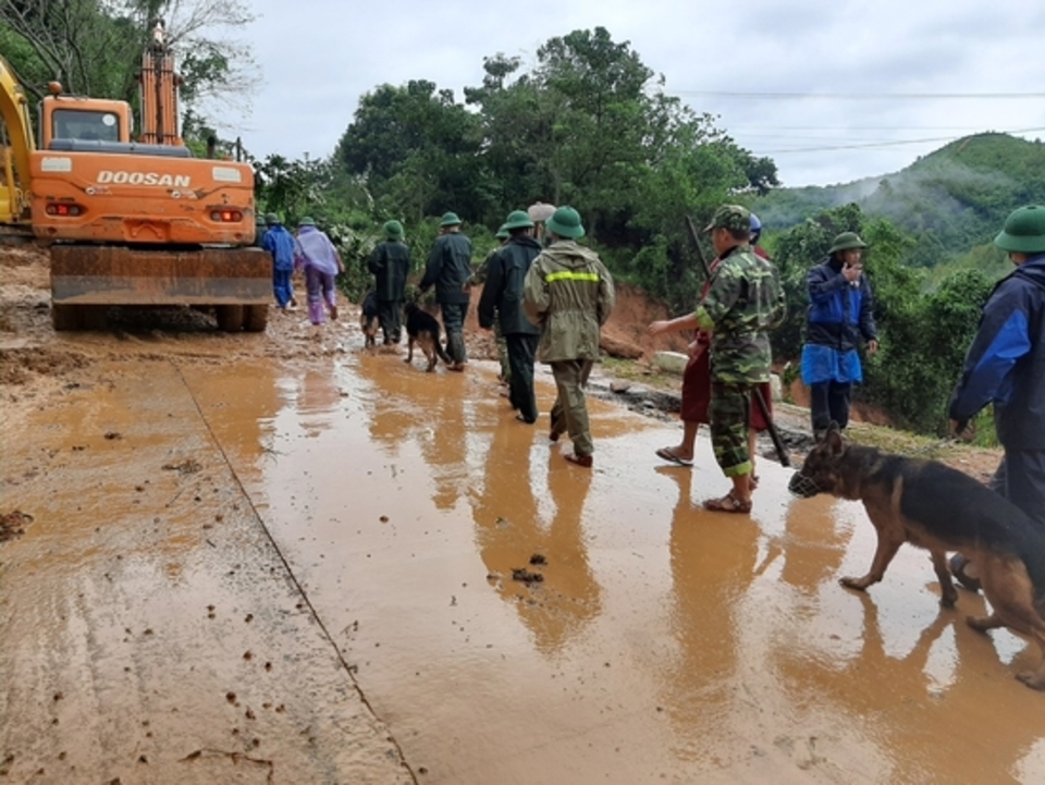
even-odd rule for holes
{"type": "MultiPolygon", "coordinates": [[[[1016,265],[994,287],[966,354],[948,415],[956,434],[994,404],[1005,455],[991,487],[1045,530],[1045,206],[1012,212],[994,244],[1016,265]]],[[[961,555],[951,572],[966,588],[979,581],[961,555]]]]}

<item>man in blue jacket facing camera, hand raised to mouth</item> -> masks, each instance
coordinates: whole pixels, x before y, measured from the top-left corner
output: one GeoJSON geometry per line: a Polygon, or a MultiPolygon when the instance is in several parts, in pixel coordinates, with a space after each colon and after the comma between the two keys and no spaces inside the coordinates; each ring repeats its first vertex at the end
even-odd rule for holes
{"type": "Polygon", "coordinates": [[[835,237],[827,258],[806,277],[809,318],[802,347],[802,381],[810,391],[813,436],[820,441],[832,421],[849,425],[853,383],[863,381],[857,346],[868,342],[868,354],[878,351],[874,297],[863,274],[866,243],[856,232],[835,237]]]}

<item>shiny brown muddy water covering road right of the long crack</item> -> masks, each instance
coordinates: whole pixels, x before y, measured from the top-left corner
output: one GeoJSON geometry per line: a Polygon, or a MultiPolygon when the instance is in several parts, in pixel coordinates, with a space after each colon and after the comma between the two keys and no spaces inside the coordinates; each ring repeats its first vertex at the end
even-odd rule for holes
{"type": "Polygon", "coordinates": [[[751,517],[709,514],[727,486],[704,438],[692,469],[659,466],[677,429],[612,404],[590,404],[586,471],[476,370],[186,377],[426,782],[1045,778],[1045,696],[1012,678],[1036,652],[968,629],[981,598],[939,611],[910,548],[841,589],[873,553],[862,508],[788,498],[769,461],[751,517]]]}

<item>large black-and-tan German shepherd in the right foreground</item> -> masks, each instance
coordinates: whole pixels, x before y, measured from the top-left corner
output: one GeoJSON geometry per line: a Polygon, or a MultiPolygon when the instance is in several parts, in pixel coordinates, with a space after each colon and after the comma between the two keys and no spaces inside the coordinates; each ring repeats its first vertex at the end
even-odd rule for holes
{"type": "Polygon", "coordinates": [[[1042,663],[1018,678],[1045,690],[1045,532],[1023,511],[975,479],[935,461],[890,455],[846,443],[834,422],[789,489],[803,498],[829,493],[863,502],[878,544],[871,571],[841,585],[863,591],[882,580],[905,542],[926,549],[939,578],[941,604],[958,592],[946,552],[959,551],[975,567],[989,616],[969,616],[973,629],[1009,627],[1037,643],[1042,663]]]}

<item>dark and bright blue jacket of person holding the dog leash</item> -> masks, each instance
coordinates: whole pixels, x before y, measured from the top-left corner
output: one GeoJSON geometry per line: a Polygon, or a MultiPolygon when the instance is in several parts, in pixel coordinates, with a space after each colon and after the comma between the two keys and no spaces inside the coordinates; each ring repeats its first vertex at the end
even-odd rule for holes
{"type": "Polygon", "coordinates": [[[994,287],[950,400],[968,422],[994,404],[1007,450],[1045,450],[1045,254],[1034,254],[994,287]]]}

